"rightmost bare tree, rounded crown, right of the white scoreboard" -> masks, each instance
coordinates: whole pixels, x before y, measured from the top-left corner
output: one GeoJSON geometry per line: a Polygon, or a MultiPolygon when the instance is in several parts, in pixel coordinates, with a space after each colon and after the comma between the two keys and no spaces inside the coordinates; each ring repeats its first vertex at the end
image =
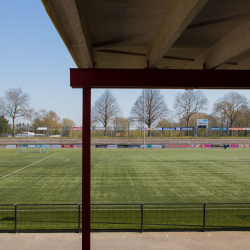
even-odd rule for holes
{"type": "Polygon", "coordinates": [[[248,100],[238,92],[229,92],[214,103],[213,109],[216,114],[227,118],[232,127],[237,118],[248,110],[248,100]]]}

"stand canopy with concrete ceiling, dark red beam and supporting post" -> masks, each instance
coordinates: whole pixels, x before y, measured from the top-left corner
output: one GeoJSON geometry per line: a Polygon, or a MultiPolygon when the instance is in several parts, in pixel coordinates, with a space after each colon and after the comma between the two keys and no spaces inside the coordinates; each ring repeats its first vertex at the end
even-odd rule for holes
{"type": "Polygon", "coordinates": [[[70,84],[83,88],[82,244],[90,249],[91,88],[249,89],[250,1],[42,2],[79,68],[70,84]],[[156,67],[169,70],[144,70],[156,67]]]}

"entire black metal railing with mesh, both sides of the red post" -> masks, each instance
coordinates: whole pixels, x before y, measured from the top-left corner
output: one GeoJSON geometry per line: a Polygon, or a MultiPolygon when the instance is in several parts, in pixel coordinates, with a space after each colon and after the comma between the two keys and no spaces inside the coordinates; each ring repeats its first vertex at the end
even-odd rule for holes
{"type": "MultiPolygon", "coordinates": [[[[250,203],[91,204],[91,232],[250,230],[250,203]]],[[[82,204],[0,205],[0,232],[81,232],[82,204]]]]}

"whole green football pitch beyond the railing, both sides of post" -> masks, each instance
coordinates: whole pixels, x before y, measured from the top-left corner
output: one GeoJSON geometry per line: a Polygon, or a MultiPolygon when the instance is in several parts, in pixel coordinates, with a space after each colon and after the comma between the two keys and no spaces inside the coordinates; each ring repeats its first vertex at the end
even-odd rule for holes
{"type": "MultiPolygon", "coordinates": [[[[80,149],[0,149],[0,204],[82,202],[80,149]]],[[[92,149],[91,203],[250,202],[250,149],[92,149]]]]}

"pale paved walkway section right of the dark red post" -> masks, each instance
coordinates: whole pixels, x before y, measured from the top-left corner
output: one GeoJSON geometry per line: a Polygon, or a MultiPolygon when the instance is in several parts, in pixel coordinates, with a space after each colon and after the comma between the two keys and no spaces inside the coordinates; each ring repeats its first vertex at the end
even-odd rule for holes
{"type": "Polygon", "coordinates": [[[91,250],[249,250],[250,232],[92,233],[91,250]]]}

